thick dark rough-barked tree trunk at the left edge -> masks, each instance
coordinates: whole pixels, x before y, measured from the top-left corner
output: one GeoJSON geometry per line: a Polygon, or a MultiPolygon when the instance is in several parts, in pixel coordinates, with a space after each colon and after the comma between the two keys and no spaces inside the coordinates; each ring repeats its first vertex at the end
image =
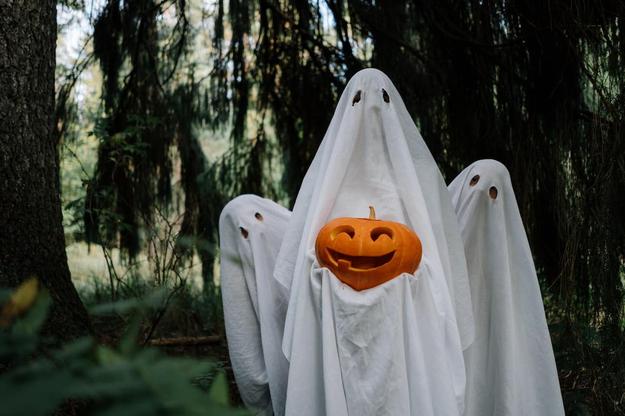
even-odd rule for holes
{"type": "Polygon", "coordinates": [[[53,299],[45,332],[68,339],[90,325],[65,253],[55,48],[55,0],[0,0],[0,287],[36,275],[53,299]]]}

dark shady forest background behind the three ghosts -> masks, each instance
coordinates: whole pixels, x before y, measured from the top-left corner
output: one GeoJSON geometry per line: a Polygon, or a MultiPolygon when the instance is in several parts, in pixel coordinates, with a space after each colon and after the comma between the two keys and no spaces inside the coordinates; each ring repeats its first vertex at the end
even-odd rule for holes
{"type": "MultiPolygon", "coordinates": [[[[57,41],[54,67],[32,74],[56,74],[54,105],[40,110],[53,126],[42,139],[52,153],[40,160],[58,178],[50,189],[61,195],[70,265],[78,243],[105,262],[102,276],[78,282],[74,273],[83,303],[117,305],[91,317],[72,306],[69,319],[53,302],[44,332],[95,334],[115,345],[132,325],[129,311],[141,310],[133,329],[140,344],[194,337],[192,351],[180,341],[166,352],[222,357],[227,369],[219,213],[241,193],[291,208],[347,80],[376,67],[396,85],[447,183],[478,159],[507,166],[567,413],[624,412],[625,2],[64,0],[41,7],[56,10],[40,24],[57,41]],[[72,52],[68,28],[76,21],[83,32],[72,52]],[[162,296],[154,298],[154,289],[162,296]],[[146,297],[149,307],[136,300],[146,297]],[[133,299],[139,303],[114,309],[133,299]],[[68,319],[81,323],[67,329],[68,319]]],[[[5,36],[17,39],[16,51],[23,44],[5,36]]],[[[3,45],[11,51],[11,42],[3,45]]],[[[19,119],[2,109],[2,117],[19,119]]],[[[17,152],[10,143],[20,134],[19,126],[2,130],[7,154],[17,152]]],[[[0,191],[9,195],[6,183],[0,191]]],[[[2,227],[29,236],[14,221],[2,227]]],[[[0,238],[0,286],[34,273],[53,298],[60,291],[76,304],[73,288],[46,278],[50,264],[66,262],[64,252],[32,261],[35,247],[8,261],[7,247],[22,243],[0,238]]],[[[58,274],[69,279],[69,271],[58,274]]],[[[236,403],[236,391],[230,395],[236,403]]]]}

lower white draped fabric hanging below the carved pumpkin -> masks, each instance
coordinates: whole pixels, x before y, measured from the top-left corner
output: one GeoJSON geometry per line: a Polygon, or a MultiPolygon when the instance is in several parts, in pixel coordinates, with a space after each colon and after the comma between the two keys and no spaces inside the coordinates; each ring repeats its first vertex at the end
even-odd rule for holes
{"type": "Polygon", "coordinates": [[[427,259],[414,275],[357,292],[320,268],[314,251],[308,258],[312,269],[302,286],[310,291],[301,300],[312,302],[312,313],[297,321],[286,414],[462,414],[451,299],[427,259]]]}

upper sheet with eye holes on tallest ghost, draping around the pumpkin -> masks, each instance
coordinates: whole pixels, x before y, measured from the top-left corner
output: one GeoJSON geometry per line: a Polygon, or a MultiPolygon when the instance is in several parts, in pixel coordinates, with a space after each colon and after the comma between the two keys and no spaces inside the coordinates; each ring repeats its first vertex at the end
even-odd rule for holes
{"type": "Polygon", "coordinates": [[[300,282],[311,270],[307,251],[327,221],[366,218],[369,205],[378,218],[416,231],[432,274],[446,281],[462,347],[471,344],[466,263],[444,180],[391,80],[379,70],[364,69],[341,95],[297,195],[277,259],[274,277],[290,292],[283,342],[287,357],[300,282]]]}

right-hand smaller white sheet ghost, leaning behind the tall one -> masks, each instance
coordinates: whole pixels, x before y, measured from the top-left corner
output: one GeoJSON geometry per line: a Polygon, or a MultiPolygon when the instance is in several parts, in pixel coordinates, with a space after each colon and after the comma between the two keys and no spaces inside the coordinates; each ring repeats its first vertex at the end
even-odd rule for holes
{"type": "Polygon", "coordinates": [[[464,351],[465,414],[564,415],[536,269],[506,167],[475,162],[449,193],[475,320],[475,340],[464,351]]]}

